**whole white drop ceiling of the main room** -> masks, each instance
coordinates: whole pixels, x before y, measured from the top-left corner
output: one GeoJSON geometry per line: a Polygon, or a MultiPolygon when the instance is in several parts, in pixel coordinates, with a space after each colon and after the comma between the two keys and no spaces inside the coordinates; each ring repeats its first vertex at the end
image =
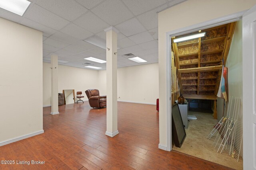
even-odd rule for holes
{"type": "MultiPolygon", "coordinates": [[[[23,16],[0,8],[0,17],[43,32],[43,61],[58,54],[59,64],[106,69],[106,63],[84,60],[95,57],[106,60],[106,50],[84,41],[97,36],[106,41],[104,29],[116,27],[118,33],[118,68],[158,63],[157,12],[185,0],[30,0],[23,16]],[[132,53],[146,63],[130,61],[122,55],[132,53]]],[[[91,69],[91,68],[85,68],[91,69]]]]}

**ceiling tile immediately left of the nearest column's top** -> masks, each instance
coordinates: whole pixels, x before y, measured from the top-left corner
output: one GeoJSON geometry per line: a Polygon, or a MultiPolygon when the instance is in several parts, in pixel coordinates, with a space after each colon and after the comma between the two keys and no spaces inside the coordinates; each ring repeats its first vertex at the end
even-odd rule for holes
{"type": "Polygon", "coordinates": [[[92,33],[99,33],[110,26],[92,12],[87,12],[73,23],[92,33]]]}

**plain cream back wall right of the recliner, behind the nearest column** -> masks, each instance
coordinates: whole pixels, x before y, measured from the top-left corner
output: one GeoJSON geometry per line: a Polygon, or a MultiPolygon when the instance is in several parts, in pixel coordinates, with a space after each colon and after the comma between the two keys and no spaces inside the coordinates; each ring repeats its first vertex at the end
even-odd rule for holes
{"type": "MultiPolygon", "coordinates": [[[[100,94],[106,94],[106,70],[99,71],[99,84],[100,94]]],[[[118,101],[156,104],[158,63],[118,68],[117,95],[118,101]]]]}

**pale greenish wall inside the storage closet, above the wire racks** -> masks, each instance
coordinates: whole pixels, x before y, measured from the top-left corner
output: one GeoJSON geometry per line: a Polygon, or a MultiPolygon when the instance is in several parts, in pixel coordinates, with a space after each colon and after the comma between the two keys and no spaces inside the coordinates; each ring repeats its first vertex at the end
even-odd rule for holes
{"type": "MultiPolygon", "coordinates": [[[[228,98],[231,96],[242,98],[242,20],[237,21],[234,31],[233,39],[230,45],[228,58],[226,61],[228,67],[228,98]]],[[[218,120],[223,115],[223,99],[217,100],[218,120]]],[[[225,115],[228,109],[228,102],[226,102],[225,115]]],[[[242,107],[240,107],[240,121],[242,120],[242,107]]]]}

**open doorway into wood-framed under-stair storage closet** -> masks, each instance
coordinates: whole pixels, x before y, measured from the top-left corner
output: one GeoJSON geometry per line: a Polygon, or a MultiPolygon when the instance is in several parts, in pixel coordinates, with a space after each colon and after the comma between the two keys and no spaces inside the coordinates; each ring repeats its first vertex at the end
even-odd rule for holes
{"type": "MultiPolygon", "coordinates": [[[[224,152],[222,154],[217,153],[213,145],[215,138],[208,140],[206,137],[224,113],[224,102],[223,100],[220,102],[221,99],[217,97],[222,65],[228,64],[230,66],[232,76],[228,80],[231,82],[235,82],[233,74],[238,71],[233,70],[233,64],[242,65],[242,62],[240,62],[242,61],[242,55],[239,59],[229,55],[234,53],[237,48],[236,43],[233,43],[234,47],[231,47],[233,35],[236,35],[235,41],[239,41],[240,37],[242,42],[241,31],[242,20],[238,23],[225,23],[171,37],[172,104],[176,102],[180,94],[187,101],[187,104],[179,105],[179,107],[186,107],[180,109],[185,125],[186,139],[182,147],[178,148],[173,145],[172,150],[236,169],[242,169],[242,158],[236,162],[234,158],[224,152]],[[198,33],[204,33],[204,36],[177,42],[177,39],[181,37],[198,33]]],[[[242,51],[242,45],[238,48],[242,51]]],[[[239,83],[242,83],[242,81],[239,83]]],[[[239,83],[228,86],[232,89],[230,95],[242,96],[239,94],[239,90],[242,92],[242,86],[239,83]],[[241,89],[234,92],[232,86],[236,86],[235,88],[238,89],[240,86],[241,89]]]]}

